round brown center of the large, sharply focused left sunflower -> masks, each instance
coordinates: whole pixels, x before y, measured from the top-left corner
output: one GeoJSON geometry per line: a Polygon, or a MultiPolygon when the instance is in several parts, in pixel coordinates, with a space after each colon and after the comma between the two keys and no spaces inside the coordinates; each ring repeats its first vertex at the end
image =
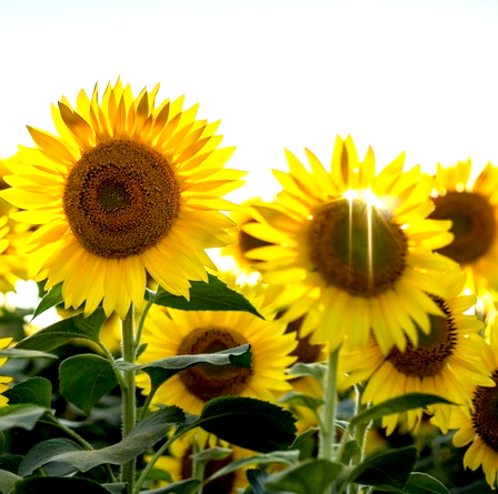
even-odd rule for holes
{"type": "Polygon", "coordinates": [[[122,259],[168,234],[178,216],[180,186],[162,154],[116,140],[81,157],[68,175],[62,201],[72,233],[88,252],[122,259]]]}

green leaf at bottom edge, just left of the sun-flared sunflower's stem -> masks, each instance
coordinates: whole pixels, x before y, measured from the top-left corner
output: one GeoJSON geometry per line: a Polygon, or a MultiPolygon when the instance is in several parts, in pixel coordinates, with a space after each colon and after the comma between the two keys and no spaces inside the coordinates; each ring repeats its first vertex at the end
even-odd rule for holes
{"type": "Polygon", "coordinates": [[[309,460],[270,475],[265,483],[268,492],[286,491],[297,494],[322,493],[340,475],[343,466],[328,460],[309,460]]]}

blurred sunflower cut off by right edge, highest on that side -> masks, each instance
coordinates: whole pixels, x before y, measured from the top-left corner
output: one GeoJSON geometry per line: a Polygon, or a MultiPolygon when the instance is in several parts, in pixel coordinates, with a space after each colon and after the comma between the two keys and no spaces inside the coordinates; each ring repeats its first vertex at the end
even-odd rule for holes
{"type": "Polygon", "coordinates": [[[429,218],[451,220],[452,242],[438,252],[457,261],[478,295],[498,293],[498,168],[488,163],[470,178],[471,161],[454,167],[438,163],[435,210],[429,218]]]}

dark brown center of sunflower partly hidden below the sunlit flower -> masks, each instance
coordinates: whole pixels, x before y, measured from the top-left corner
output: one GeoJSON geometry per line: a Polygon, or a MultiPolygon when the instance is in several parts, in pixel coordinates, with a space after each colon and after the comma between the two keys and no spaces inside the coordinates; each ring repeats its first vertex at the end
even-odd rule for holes
{"type": "Polygon", "coordinates": [[[429,314],[429,333],[426,334],[417,327],[418,346],[408,343],[405,352],[394,347],[387,356],[399,372],[411,377],[422,379],[439,374],[457,344],[457,329],[451,312],[441,299],[432,299],[445,313],[445,317],[429,314]]]}

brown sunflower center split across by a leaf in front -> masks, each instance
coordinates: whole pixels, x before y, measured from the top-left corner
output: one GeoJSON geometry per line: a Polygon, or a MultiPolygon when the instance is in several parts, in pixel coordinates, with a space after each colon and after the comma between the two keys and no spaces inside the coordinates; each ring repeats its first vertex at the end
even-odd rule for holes
{"type": "MultiPolygon", "coordinates": [[[[237,331],[226,327],[198,327],[190,332],[178,349],[179,355],[197,355],[235,349],[248,341],[237,331]]],[[[252,375],[251,369],[238,365],[199,364],[180,374],[187,390],[207,402],[217,396],[239,395],[252,375]]]]}

